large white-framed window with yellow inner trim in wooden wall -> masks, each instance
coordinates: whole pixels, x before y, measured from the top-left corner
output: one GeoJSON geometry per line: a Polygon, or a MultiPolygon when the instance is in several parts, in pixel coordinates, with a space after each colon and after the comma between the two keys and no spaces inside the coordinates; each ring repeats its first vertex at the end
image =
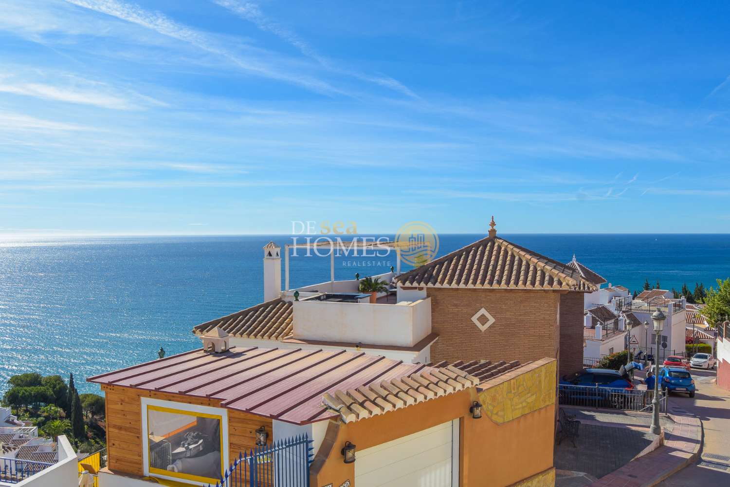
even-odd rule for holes
{"type": "Polygon", "coordinates": [[[228,464],[226,410],[142,398],[145,475],[215,484],[228,464]]]}

